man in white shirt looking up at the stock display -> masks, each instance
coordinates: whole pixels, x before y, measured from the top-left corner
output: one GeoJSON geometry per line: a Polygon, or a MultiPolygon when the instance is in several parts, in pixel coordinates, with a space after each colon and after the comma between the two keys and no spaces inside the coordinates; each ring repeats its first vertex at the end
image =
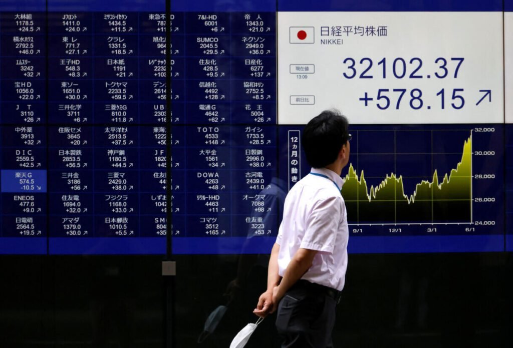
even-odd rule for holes
{"type": "Polygon", "coordinates": [[[283,220],[271,251],[267,291],[253,311],[278,308],[276,327],[285,347],[331,347],[335,306],[347,269],[347,214],[340,193],[349,161],[348,121],[322,112],[303,130],[312,170],[285,199],[283,220]]]}

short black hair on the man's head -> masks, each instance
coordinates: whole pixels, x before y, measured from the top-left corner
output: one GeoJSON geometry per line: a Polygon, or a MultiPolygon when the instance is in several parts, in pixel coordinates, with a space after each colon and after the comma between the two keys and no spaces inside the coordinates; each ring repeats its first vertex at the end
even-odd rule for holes
{"type": "Polygon", "coordinates": [[[312,118],[303,130],[301,144],[313,168],[333,163],[349,138],[349,122],[338,110],[325,110],[312,118]]]}

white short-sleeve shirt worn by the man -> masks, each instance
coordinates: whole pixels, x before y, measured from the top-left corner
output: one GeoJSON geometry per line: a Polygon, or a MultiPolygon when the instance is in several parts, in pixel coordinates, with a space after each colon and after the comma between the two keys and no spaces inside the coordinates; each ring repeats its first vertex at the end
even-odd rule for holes
{"type": "Polygon", "coordinates": [[[337,173],[312,169],[289,191],[276,239],[280,276],[299,248],[317,250],[301,279],[339,291],[344,288],[349,230],[342,185],[344,180],[337,173]]]}

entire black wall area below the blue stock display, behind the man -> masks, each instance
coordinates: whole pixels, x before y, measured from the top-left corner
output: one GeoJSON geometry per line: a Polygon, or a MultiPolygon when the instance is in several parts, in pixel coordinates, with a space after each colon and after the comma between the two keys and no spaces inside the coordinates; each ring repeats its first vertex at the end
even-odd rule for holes
{"type": "MultiPolygon", "coordinates": [[[[180,256],[175,347],[228,347],[256,317],[266,255],[180,256]],[[228,305],[215,331],[208,315],[228,305]]],[[[1,347],[163,347],[161,256],[0,256],[1,347]]],[[[511,253],[349,255],[335,347],[511,347],[511,253]]],[[[248,347],[278,347],[270,316],[248,347]]]]}

